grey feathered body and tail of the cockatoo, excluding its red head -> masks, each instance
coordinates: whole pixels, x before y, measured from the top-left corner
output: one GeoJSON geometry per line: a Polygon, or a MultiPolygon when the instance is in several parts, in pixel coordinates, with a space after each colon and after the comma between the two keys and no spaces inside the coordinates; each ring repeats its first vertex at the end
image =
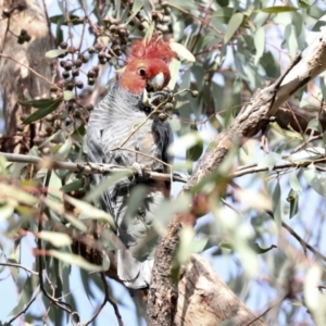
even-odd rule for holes
{"type": "MultiPolygon", "coordinates": [[[[168,122],[161,122],[156,116],[149,118],[124,145],[125,148],[146,153],[147,156],[124,150],[112,151],[118,148],[139,124],[143,123],[148,113],[141,103],[141,96],[133,95],[116,84],[96,106],[89,118],[87,126],[89,160],[123,166],[131,166],[137,162],[152,171],[166,171],[166,166],[160,161],[165,163],[171,161],[167,148],[173,141],[173,133],[168,122]]],[[[93,183],[99,184],[103,176],[96,175],[93,183]]],[[[156,209],[166,196],[166,189],[164,191],[162,185],[159,187],[148,183],[149,189],[141,206],[128,216],[126,213],[129,193],[137,183],[140,181],[134,183],[126,178],[108,189],[100,200],[102,209],[113,215],[117,236],[126,246],[125,250],[116,252],[118,277],[127,287],[135,289],[150,284],[155,248],[159,242],[152,222],[156,209]]]]}

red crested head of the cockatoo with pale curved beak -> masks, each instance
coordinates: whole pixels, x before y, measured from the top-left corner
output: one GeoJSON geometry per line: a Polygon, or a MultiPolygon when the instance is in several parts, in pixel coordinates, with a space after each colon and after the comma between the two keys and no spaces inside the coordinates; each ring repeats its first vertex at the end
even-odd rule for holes
{"type": "Polygon", "coordinates": [[[156,36],[148,42],[135,41],[120,79],[121,87],[136,95],[163,89],[171,78],[167,64],[174,57],[168,43],[156,36]]]}

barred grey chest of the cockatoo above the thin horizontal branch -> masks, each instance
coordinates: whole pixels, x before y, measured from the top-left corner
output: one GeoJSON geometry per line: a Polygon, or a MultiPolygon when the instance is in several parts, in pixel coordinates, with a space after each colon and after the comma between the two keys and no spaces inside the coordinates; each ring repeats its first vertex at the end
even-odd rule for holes
{"type": "Polygon", "coordinates": [[[141,96],[115,86],[92,112],[88,127],[100,130],[106,163],[131,166],[138,162],[164,171],[160,161],[167,162],[170,125],[156,116],[148,118],[149,112],[142,109],[141,96]]]}

